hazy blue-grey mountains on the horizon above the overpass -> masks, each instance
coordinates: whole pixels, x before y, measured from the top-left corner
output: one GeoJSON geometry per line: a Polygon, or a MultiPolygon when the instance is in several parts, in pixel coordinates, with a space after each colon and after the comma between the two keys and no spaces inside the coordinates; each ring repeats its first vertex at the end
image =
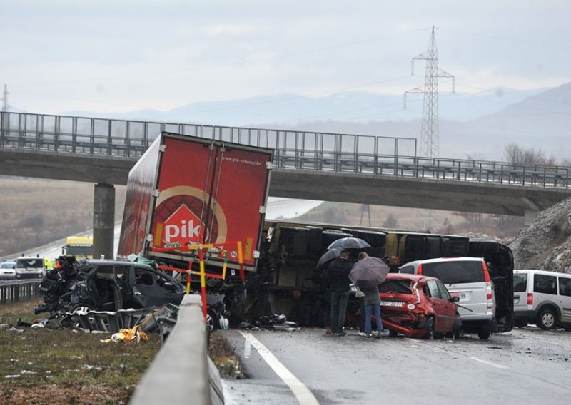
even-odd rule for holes
{"type": "MultiPolygon", "coordinates": [[[[559,162],[571,154],[571,83],[519,91],[446,91],[440,83],[440,157],[502,160],[508,143],[541,149],[559,162]]],[[[66,111],[73,116],[102,116],[66,111]]],[[[168,123],[252,126],[360,135],[420,138],[423,95],[404,97],[363,91],[308,97],[295,94],[192,103],[170,111],[141,110],[106,118],[168,123]]]]}

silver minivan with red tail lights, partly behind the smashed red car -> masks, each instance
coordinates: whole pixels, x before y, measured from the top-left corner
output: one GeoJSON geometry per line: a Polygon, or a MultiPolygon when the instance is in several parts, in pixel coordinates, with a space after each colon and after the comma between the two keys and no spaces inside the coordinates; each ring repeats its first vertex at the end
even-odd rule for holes
{"type": "Polygon", "coordinates": [[[460,298],[458,314],[466,332],[487,339],[492,332],[495,304],[490,274],[480,257],[439,257],[416,260],[401,266],[400,273],[440,279],[449,292],[460,298]]]}

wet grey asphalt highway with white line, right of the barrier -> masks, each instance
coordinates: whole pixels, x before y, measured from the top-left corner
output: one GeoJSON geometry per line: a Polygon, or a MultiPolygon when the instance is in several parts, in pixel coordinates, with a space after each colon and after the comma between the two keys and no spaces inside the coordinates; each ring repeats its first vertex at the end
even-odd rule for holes
{"type": "Polygon", "coordinates": [[[488,340],[330,337],[305,328],[218,333],[248,376],[223,380],[230,405],[571,403],[571,333],[562,329],[528,326],[488,340]]]}

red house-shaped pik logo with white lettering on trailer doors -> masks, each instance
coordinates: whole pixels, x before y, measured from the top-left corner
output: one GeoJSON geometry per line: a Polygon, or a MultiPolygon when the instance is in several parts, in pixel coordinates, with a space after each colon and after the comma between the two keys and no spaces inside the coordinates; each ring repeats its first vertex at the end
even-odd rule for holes
{"type": "Polygon", "coordinates": [[[178,242],[186,245],[189,242],[200,242],[204,224],[186,205],[181,204],[165,221],[164,230],[164,243],[172,245],[178,242]]]}

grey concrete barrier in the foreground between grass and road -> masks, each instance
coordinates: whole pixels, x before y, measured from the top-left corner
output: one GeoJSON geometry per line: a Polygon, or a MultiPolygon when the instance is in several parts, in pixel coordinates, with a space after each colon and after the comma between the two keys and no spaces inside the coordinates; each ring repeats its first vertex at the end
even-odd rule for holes
{"type": "Polygon", "coordinates": [[[176,325],[129,404],[223,404],[220,374],[208,357],[201,297],[185,295],[176,325]]]}

